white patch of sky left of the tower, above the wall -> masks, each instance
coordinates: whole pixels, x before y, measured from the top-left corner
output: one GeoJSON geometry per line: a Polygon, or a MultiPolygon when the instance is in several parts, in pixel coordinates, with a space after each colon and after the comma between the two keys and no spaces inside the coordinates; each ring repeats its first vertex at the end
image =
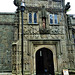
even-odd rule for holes
{"type": "Polygon", "coordinates": [[[15,12],[14,0],[0,0],[0,12],[15,12]]]}

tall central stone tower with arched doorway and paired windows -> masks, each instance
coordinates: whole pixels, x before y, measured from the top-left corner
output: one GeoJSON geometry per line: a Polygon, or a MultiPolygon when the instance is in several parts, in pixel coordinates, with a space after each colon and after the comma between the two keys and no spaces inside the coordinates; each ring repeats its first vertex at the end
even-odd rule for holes
{"type": "MultiPolygon", "coordinates": [[[[21,1],[19,1],[21,2],[21,1]]],[[[20,3],[19,3],[20,4],[20,3]]],[[[64,0],[25,0],[23,69],[25,75],[54,75],[68,68],[64,0]],[[60,68],[61,67],[61,68],[60,68]]],[[[17,10],[13,53],[15,70],[21,75],[21,12],[17,10]],[[17,35],[18,34],[18,35],[17,35]]]]}

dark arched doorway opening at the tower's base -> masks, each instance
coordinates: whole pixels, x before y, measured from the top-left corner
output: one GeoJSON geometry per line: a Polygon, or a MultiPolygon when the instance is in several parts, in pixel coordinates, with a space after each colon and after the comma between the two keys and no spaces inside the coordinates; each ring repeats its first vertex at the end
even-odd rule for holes
{"type": "Polygon", "coordinates": [[[47,48],[36,52],[36,75],[54,75],[53,53],[47,48]]]}

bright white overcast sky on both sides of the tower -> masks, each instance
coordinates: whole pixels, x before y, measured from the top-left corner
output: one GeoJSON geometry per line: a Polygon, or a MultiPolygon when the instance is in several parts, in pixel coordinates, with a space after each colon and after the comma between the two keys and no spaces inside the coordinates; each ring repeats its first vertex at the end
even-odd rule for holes
{"type": "MultiPolygon", "coordinates": [[[[0,0],[0,12],[15,12],[16,6],[13,4],[14,0],[0,0]]],[[[75,14],[75,1],[74,0],[65,0],[65,4],[70,2],[71,8],[68,14],[75,14]]]]}

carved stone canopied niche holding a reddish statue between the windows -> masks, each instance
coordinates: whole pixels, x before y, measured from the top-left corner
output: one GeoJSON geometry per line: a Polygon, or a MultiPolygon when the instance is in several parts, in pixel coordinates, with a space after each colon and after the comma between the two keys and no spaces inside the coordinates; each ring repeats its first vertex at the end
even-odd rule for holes
{"type": "Polygon", "coordinates": [[[49,24],[47,23],[48,15],[47,15],[45,6],[42,6],[42,10],[41,10],[41,13],[40,13],[40,20],[42,22],[40,22],[41,24],[40,24],[39,32],[41,34],[49,34],[50,33],[50,30],[48,29],[49,28],[49,24]]]}

